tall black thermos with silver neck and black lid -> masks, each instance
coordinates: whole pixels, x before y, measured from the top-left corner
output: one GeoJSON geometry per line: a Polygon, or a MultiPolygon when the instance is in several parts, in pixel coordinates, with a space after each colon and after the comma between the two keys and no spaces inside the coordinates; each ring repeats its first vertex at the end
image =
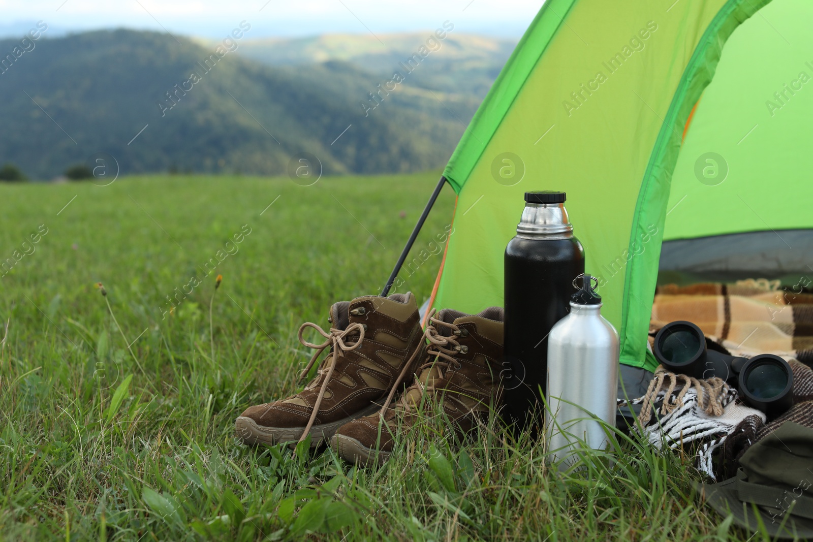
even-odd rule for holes
{"type": "Polygon", "coordinates": [[[564,202],[563,192],[526,192],[505,254],[503,397],[515,427],[534,434],[544,427],[548,334],[569,312],[573,281],[585,272],[585,250],[573,236],[564,202]]]}

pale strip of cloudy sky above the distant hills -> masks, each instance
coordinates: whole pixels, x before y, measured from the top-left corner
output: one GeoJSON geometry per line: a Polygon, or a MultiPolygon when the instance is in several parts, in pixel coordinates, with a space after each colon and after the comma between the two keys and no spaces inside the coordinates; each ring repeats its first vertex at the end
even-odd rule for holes
{"type": "Polygon", "coordinates": [[[519,39],[541,0],[0,0],[0,36],[39,20],[50,36],[95,28],[138,28],[217,38],[242,20],[253,37],[393,33],[438,28],[519,39]]]}

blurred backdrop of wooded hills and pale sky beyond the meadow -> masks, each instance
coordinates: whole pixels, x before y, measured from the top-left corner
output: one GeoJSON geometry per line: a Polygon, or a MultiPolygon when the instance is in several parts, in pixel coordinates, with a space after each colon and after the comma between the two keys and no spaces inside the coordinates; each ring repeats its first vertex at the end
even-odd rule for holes
{"type": "Polygon", "coordinates": [[[538,7],[4,0],[0,178],[438,169],[538,7]]]}

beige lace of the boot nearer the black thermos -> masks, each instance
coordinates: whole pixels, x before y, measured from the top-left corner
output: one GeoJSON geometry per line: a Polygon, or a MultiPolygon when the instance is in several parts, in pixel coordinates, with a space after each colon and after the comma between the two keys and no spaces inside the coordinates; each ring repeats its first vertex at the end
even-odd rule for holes
{"type": "MultiPolygon", "coordinates": [[[[436,313],[437,310],[435,309],[429,313],[429,325],[426,327],[426,331],[424,332],[424,337],[429,342],[426,349],[429,361],[418,367],[416,374],[420,375],[425,369],[436,367],[439,374],[435,379],[444,379],[446,376],[446,370],[449,369],[450,366],[454,369],[460,368],[460,363],[454,359],[454,355],[461,352],[463,347],[461,347],[460,343],[454,338],[457,336],[460,328],[455,326],[453,323],[447,323],[441,319],[435,318],[436,313]],[[438,331],[438,327],[446,327],[450,329],[452,332],[451,336],[441,335],[441,333],[438,331]]],[[[418,352],[420,352],[420,349],[415,350],[415,353],[413,353],[412,357],[406,362],[401,374],[398,375],[398,379],[395,380],[395,384],[393,384],[393,387],[390,388],[389,395],[387,396],[386,401],[384,401],[384,405],[381,407],[379,412],[381,418],[384,417],[384,414],[387,408],[389,408],[390,402],[393,400],[393,396],[395,395],[398,386],[401,384],[404,376],[406,376],[406,371],[409,371],[412,360],[415,358],[418,352]]],[[[415,384],[412,384],[402,393],[401,399],[398,401],[398,405],[396,405],[398,408],[403,410],[411,409],[411,403],[407,400],[407,398],[409,397],[409,392],[414,389],[417,389],[420,392],[420,397],[424,397],[424,395],[427,393],[433,393],[436,388],[434,384],[424,384],[420,381],[420,378],[415,378],[415,384]]]]}

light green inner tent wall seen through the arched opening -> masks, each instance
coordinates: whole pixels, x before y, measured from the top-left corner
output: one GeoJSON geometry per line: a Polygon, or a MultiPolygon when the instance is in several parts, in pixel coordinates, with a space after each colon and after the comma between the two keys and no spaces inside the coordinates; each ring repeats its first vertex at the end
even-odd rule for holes
{"type": "Polygon", "coordinates": [[[665,240],[765,231],[803,258],[783,231],[811,228],[813,215],[811,27],[813,2],[774,0],[729,38],[680,150],[665,240]],[[723,161],[700,159],[711,152],[723,161]]]}

